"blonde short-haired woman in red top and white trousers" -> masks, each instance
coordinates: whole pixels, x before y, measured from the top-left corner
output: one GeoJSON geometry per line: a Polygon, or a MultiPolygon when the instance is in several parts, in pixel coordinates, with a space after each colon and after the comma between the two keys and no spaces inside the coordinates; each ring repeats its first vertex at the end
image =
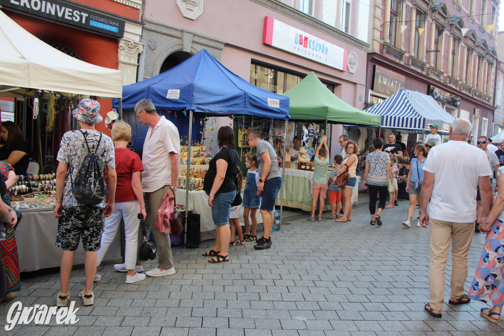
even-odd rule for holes
{"type": "MultiPolygon", "coordinates": [[[[98,266],[100,266],[108,246],[117,233],[121,217],[124,218],[124,236],[126,238],[124,263],[116,264],[114,268],[120,272],[128,272],[126,283],[133,284],[145,279],[145,274],[136,272],[143,271],[143,267],[135,266],[138,247],[138,213],[141,213],[144,218],[146,216],[140,183],[144,167],[140,156],[127,148],[132,136],[131,126],[123,121],[117,121],[113,124],[110,133],[114,141],[117,187],[115,189],[114,211],[110,217],[105,218],[101,247],[98,251],[98,266]]],[[[100,279],[101,276],[97,273],[94,281],[100,281],[100,279]]]]}

